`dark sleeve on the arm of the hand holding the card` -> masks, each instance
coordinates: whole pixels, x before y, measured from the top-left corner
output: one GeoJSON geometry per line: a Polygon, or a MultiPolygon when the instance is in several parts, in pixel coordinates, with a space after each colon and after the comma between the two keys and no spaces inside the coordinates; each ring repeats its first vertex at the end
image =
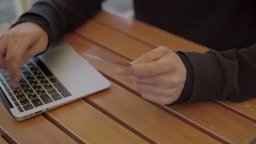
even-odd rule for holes
{"type": "Polygon", "coordinates": [[[179,53],[185,56],[183,61],[188,59],[193,69],[188,71],[193,75],[193,79],[188,80],[193,82],[193,87],[186,87],[186,82],[183,89],[190,95],[182,94],[177,100],[179,103],[210,99],[243,101],[256,97],[256,45],[223,52],[179,53]]]}

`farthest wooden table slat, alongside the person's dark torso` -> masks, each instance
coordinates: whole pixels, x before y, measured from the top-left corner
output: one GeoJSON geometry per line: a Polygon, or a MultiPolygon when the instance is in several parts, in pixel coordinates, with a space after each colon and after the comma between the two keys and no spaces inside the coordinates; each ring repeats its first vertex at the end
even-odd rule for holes
{"type": "Polygon", "coordinates": [[[94,21],[102,23],[133,38],[143,41],[154,47],[164,45],[173,51],[205,52],[207,47],[185,40],[177,35],[170,34],[162,29],[147,25],[141,21],[124,19],[107,11],[101,11],[94,17],[94,21]]]}

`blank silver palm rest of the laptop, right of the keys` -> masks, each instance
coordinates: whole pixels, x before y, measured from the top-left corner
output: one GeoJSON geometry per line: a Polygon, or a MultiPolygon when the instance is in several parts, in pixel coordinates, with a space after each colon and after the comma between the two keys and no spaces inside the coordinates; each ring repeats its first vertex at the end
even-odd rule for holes
{"type": "Polygon", "coordinates": [[[73,92],[87,95],[109,87],[106,78],[66,43],[50,47],[39,58],[73,92]]]}

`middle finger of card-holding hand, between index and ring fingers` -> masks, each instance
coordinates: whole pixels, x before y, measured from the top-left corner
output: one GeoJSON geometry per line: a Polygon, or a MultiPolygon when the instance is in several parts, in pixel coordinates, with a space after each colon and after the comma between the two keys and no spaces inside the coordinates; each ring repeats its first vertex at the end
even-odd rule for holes
{"type": "Polygon", "coordinates": [[[155,76],[132,76],[133,81],[141,83],[151,83],[165,87],[177,87],[185,83],[185,77],[179,77],[173,73],[165,73],[155,76]]]}

